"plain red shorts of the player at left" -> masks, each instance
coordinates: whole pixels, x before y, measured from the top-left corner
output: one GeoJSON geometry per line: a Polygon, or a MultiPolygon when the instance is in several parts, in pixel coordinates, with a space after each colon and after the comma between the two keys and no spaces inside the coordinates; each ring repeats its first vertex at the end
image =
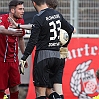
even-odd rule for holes
{"type": "Polygon", "coordinates": [[[0,61],[0,90],[5,90],[19,84],[19,62],[0,61]]]}

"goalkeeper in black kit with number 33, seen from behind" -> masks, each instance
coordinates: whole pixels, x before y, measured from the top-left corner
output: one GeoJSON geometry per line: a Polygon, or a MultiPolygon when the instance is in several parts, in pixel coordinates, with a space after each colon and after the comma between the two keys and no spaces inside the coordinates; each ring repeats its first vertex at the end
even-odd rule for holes
{"type": "MultiPolygon", "coordinates": [[[[67,31],[68,35],[75,32],[75,29],[58,11],[48,8],[45,0],[32,0],[32,3],[38,14],[33,18],[31,35],[20,61],[20,65],[23,67],[21,72],[24,74],[25,61],[36,46],[33,64],[36,99],[46,99],[46,90],[52,86],[52,79],[53,86],[56,83],[56,74],[61,65],[60,29],[67,31]]],[[[24,28],[22,25],[18,25],[18,27],[24,28]]],[[[49,92],[48,98],[62,99],[55,91],[49,92]]]]}

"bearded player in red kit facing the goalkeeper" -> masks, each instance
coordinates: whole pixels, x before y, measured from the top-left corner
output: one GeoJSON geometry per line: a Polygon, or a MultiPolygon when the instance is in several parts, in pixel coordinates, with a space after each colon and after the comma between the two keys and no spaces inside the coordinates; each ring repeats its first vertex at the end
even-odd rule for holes
{"type": "Polygon", "coordinates": [[[20,84],[18,43],[23,53],[25,31],[19,27],[12,29],[9,17],[19,24],[24,24],[23,3],[18,0],[10,1],[9,13],[0,15],[0,99],[3,99],[7,88],[10,90],[10,99],[18,99],[18,85],[20,84]]]}

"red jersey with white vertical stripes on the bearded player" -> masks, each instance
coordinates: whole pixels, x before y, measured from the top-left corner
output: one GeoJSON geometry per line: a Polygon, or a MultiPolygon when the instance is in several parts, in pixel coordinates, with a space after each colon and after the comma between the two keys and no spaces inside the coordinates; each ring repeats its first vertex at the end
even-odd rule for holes
{"type": "MultiPolygon", "coordinates": [[[[0,15],[0,25],[3,25],[6,29],[8,29],[10,26],[8,17],[9,14],[0,15]]],[[[18,19],[16,22],[24,24],[23,19],[18,19]]],[[[23,32],[23,35],[24,34],[25,31],[23,32]]],[[[18,37],[0,34],[0,61],[18,61],[18,37]]]]}

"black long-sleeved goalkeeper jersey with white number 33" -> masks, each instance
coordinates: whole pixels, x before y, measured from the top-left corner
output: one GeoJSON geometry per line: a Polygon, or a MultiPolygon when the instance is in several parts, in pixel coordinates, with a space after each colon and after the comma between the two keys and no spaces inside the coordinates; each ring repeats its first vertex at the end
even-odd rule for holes
{"type": "Polygon", "coordinates": [[[74,27],[70,25],[63,16],[56,10],[47,8],[36,14],[32,21],[33,29],[24,57],[28,57],[36,45],[36,50],[52,50],[59,51],[60,28],[67,31],[71,36],[74,27]]]}

